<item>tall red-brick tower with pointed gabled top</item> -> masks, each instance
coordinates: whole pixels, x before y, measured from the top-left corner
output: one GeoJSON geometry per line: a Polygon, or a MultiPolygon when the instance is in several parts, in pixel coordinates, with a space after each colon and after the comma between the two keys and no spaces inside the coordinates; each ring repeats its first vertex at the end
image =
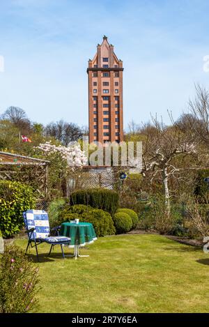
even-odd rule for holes
{"type": "Polygon", "coordinates": [[[123,141],[123,61],[107,36],[88,60],[89,142],[123,141]]]}

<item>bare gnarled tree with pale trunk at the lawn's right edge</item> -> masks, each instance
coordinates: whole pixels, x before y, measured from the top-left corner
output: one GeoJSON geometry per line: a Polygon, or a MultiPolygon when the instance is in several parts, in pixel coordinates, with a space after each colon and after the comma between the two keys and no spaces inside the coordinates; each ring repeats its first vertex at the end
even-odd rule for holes
{"type": "MultiPolygon", "coordinates": [[[[164,197],[167,205],[167,214],[170,213],[169,179],[180,178],[183,168],[179,167],[179,158],[192,155],[196,157],[194,142],[187,133],[183,133],[177,126],[165,126],[157,117],[153,118],[153,126],[145,126],[146,141],[143,150],[144,176],[150,176],[150,183],[160,178],[164,186],[164,197]]],[[[197,163],[197,162],[196,162],[197,163]]],[[[187,169],[195,169],[187,167],[187,169]]]]}

